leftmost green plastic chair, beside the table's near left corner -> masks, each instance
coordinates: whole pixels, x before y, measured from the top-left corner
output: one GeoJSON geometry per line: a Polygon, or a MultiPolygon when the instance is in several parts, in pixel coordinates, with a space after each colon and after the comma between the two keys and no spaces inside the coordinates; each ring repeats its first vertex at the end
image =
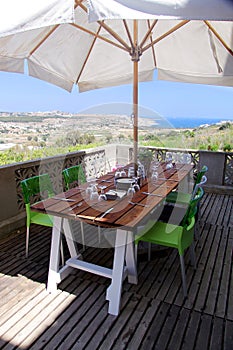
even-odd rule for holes
{"type": "MultiPolygon", "coordinates": [[[[29,231],[31,224],[47,227],[53,226],[53,216],[31,211],[30,205],[42,199],[54,196],[53,186],[48,174],[33,176],[21,181],[23,199],[26,208],[26,258],[29,251],[29,231]]],[[[63,259],[63,250],[62,250],[63,259]]]]}

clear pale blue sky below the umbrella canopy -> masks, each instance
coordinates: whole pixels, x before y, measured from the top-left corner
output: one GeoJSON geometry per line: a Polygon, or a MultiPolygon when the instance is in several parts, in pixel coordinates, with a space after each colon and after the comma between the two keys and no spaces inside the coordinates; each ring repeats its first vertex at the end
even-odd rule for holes
{"type": "MultiPolygon", "coordinates": [[[[81,113],[102,104],[132,103],[132,85],[71,93],[16,73],[0,72],[0,111],[81,113]]],[[[139,104],[165,118],[219,118],[233,120],[233,88],[154,80],[141,83],[139,104]]]]}

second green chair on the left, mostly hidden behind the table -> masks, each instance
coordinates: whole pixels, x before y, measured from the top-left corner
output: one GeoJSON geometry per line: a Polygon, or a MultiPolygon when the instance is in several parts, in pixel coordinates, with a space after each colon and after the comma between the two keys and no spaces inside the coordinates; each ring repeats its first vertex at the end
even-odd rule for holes
{"type": "MultiPolygon", "coordinates": [[[[81,164],[74,165],[70,168],[66,168],[62,171],[62,175],[64,178],[66,189],[69,190],[70,188],[77,186],[79,184],[83,184],[86,181],[86,176],[84,174],[83,168],[81,164]]],[[[80,221],[80,228],[81,228],[81,237],[82,237],[82,245],[83,250],[85,250],[85,238],[84,238],[84,227],[83,222],[80,221]]]]}

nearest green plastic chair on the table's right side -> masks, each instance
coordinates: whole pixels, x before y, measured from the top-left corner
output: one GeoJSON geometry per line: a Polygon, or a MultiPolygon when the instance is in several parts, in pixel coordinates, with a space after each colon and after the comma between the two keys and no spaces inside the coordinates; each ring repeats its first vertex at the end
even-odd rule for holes
{"type": "Polygon", "coordinates": [[[148,258],[150,259],[151,244],[171,247],[178,250],[180,256],[181,276],[183,283],[184,297],[187,297],[187,285],[185,276],[184,251],[190,248],[192,262],[196,269],[196,257],[194,251],[194,225],[195,215],[199,201],[204,195],[203,189],[200,187],[195,197],[190,201],[186,214],[180,225],[169,224],[157,221],[149,222],[144,229],[135,237],[135,254],[137,257],[138,243],[140,241],[149,243],[148,258]]]}

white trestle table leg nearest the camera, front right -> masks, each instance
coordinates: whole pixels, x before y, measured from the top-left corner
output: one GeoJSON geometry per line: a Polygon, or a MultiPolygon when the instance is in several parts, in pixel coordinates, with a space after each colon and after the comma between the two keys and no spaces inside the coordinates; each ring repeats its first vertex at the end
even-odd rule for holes
{"type": "Polygon", "coordinates": [[[109,300],[108,312],[112,315],[118,315],[120,309],[127,234],[127,231],[117,229],[113,260],[112,283],[108,287],[106,296],[106,299],[109,300]]]}

